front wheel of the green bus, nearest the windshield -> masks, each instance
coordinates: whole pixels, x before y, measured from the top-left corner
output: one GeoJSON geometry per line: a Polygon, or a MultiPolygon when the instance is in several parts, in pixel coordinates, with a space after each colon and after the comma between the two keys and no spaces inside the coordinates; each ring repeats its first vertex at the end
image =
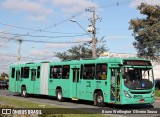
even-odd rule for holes
{"type": "Polygon", "coordinates": [[[104,104],[103,93],[101,91],[97,92],[96,104],[97,104],[98,107],[103,107],[105,105],[104,104]]]}

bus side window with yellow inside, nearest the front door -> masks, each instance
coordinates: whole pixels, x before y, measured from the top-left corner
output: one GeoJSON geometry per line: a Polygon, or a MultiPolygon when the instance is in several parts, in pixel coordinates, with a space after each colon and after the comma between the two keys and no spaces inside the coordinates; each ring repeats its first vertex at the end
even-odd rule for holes
{"type": "Polygon", "coordinates": [[[96,66],[96,79],[97,80],[106,80],[107,79],[107,64],[97,64],[96,66]]]}

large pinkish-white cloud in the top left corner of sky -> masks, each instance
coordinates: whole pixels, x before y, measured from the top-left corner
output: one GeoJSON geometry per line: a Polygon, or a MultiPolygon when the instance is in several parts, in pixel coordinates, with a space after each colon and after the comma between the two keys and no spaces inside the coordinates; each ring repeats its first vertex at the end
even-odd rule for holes
{"type": "Polygon", "coordinates": [[[26,12],[30,17],[36,16],[38,20],[44,20],[44,16],[47,17],[53,13],[51,8],[45,7],[43,2],[33,2],[31,0],[5,0],[1,7],[6,10],[12,10],[14,12],[26,12]],[[42,18],[43,17],[43,18],[42,18]]]}

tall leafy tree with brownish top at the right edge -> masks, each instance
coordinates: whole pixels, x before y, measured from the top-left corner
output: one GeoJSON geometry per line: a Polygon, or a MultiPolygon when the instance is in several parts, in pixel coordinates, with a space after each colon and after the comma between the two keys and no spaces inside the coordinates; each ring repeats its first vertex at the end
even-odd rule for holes
{"type": "Polygon", "coordinates": [[[142,3],[137,7],[145,18],[130,20],[135,37],[134,47],[140,57],[157,59],[160,55],[160,6],[142,3]]]}

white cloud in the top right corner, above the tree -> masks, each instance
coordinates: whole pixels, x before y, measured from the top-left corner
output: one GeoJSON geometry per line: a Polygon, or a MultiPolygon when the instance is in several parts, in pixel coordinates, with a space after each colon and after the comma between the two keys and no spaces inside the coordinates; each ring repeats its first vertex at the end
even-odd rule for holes
{"type": "Polygon", "coordinates": [[[149,5],[160,5],[160,0],[134,0],[130,6],[131,7],[137,7],[140,5],[142,2],[147,3],[149,5]]]}

